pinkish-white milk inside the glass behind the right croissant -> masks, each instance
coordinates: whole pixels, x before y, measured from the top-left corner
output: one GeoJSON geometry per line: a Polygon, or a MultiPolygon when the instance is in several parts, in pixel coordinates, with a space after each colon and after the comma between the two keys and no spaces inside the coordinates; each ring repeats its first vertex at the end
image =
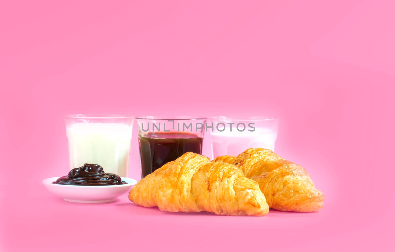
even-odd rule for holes
{"type": "Polygon", "coordinates": [[[237,156],[249,148],[265,148],[274,151],[277,134],[269,129],[256,129],[256,131],[211,132],[211,145],[213,157],[222,155],[237,156]]]}

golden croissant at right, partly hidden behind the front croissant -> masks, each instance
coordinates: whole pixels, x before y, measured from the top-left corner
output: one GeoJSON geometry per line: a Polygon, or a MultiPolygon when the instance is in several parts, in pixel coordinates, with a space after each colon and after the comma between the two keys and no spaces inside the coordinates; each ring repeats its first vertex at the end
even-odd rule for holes
{"type": "Polygon", "coordinates": [[[314,187],[307,171],[269,149],[251,148],[237,157],[220,156],[214,160],[233,160],[246,177],[258,182],[273,209],[313,212],[324,207],[324,193],[314,187]]]}

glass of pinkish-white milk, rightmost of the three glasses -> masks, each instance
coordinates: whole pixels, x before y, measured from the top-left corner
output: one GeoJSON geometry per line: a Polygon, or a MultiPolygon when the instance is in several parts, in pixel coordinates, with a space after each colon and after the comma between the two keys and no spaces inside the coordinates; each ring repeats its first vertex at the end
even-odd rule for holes
{"type": "Polygon", "coordinates": [[[265,117],[211,118],[206,127],[211,130],[213,158],[222,155],[237,156],[249,148],[274,151],[278,119],[265,117]]]}

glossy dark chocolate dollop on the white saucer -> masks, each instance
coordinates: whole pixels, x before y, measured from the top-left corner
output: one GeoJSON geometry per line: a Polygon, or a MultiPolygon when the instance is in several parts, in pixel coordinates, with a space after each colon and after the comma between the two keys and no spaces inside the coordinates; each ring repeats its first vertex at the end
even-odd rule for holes
{"type": "Polygon", "coordinates": [[[122,181],[117,174],[105,173],[103,167],[98,164],[84,164],[74,168],[69,175],[60,177],[53,184],[59,185],[122,185],[127,184],[122,181]]]}

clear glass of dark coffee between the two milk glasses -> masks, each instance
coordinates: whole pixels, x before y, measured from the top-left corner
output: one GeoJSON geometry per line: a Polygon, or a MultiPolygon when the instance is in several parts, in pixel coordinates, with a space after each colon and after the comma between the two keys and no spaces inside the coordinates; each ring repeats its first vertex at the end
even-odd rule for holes
{"type": "Polygon", "coordinates": [[[139,116],[141,177],[192,151],[201,154],[207,118],[139,116]]]}

